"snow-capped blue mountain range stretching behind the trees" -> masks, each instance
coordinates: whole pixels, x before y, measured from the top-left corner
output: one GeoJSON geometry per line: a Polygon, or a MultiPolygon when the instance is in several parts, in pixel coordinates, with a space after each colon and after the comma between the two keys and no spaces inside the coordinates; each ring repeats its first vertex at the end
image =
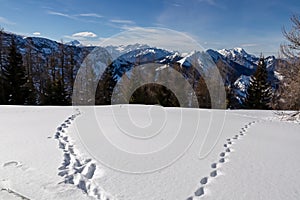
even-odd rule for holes
{"type": "MultiPolygon", "coordinates": [[[[84,58],[92,52],[95,47],[83,46],[79,41],[70,41],[65,44],[40,37],[22,37],[9,33],[3,33],[4,46],[8,47],[12,36],[15,38],[20,52],[24,55],[30,50],[40,62],[40,66],[46,66],[51,57],[58,57],[61,52],[67,56],[73,55],[75,62],[74,75],[76,75],[84,58]]],[[[219,68],[226,86],[235,90],[237,98],[245,96],[245,90],[249,83],[249,77],[255,72],[259,57],[248,54],[242,48],[212,50],[206,52],[187,52],[184,54],[176,51],[171,52],[164,49],[150,47],[146,44],[120,45],[97,47],[105,56],[109,55],[112,59],[110,66],[113,68],[113,76],[120,78],[132,67],[145,63],[160,63],[173,68],[180,68],[180,72],[185,78],[192,80],[199,78],[199,73],[191,76],[189,70],[195,65],[195,61],[205,67],[202,60],[210,57],[219,68]]],[[[277,59],[274,56],[265,58],[269,71],[269,80],[274,88],[278,83],[278,73],[276,72],[277,59]]],[[[67,61],[66,61],[67,62],[67,61]]],[[[70,62],[70,61],[68,61],[70,62]]],[[[57,61],[57,63],[59,63],[57,61]]],[[[37,69],[41,71],[43,69],[37,69]]],[[[33,70],[34,71],[34,70],[33,70]]],[[[159,70],[158,70],[159,71],[159,70]]]]}

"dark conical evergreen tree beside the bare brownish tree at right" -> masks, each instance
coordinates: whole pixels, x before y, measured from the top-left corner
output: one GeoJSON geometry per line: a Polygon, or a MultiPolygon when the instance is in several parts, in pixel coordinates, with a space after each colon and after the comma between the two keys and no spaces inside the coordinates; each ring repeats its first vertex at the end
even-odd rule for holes
{"type": "Polygon", "coordinates": [[[257,69],[250,79],[246,95],[245,108],[270,109],[272,89],[268,82],[268,71],[263,57],[258,61],[257,69]]]}

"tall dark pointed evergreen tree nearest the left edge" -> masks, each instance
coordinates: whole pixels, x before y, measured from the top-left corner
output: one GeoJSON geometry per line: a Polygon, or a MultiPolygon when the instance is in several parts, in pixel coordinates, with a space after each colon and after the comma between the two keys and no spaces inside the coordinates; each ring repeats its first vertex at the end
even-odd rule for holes
{"type": "Polygon", "coordinates": [[[17,49],[14,38],[8,52],[8,64],[4,66],[4,91],[6,103],[11,105],[23,105],[29,94],[27,77],[21,53],[17,49]]]}

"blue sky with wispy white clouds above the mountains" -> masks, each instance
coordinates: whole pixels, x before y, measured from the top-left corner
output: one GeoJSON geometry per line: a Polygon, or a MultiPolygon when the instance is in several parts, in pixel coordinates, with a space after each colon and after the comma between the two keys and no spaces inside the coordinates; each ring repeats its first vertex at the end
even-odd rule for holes
{"type": "Polygon", "coordinates": [[[99,44],[134,28],[184,32],[204,48],[242,47],[277,55],[282,27],[300,14],[299,0],[0,0],[6,31],[57,41],[99,44]]]}

